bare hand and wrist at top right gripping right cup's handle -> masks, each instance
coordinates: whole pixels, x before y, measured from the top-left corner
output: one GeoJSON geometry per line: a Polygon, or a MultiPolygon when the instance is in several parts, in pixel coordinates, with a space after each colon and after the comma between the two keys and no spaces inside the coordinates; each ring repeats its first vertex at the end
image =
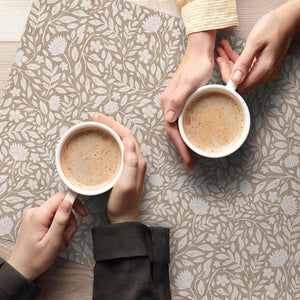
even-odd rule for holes
{"type": "Polygon", "coordinates": [[[226,40],[220,41],[216,62],[225,83],[231,78],[245,93],[275,80],[287,50],[299,30],[300,2],[288,1],[265,14],[251,30],[239,56],[226,40]]]}

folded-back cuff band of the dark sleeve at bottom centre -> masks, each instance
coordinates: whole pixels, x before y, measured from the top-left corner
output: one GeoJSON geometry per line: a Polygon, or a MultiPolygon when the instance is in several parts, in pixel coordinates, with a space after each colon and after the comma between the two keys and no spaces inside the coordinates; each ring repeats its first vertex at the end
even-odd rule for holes
{"type": "Polygon", "coordinates": [[[96,261],[147,256],[151,262],[169,263],[169,229],[137,222],[92,229],[96,261]]]}

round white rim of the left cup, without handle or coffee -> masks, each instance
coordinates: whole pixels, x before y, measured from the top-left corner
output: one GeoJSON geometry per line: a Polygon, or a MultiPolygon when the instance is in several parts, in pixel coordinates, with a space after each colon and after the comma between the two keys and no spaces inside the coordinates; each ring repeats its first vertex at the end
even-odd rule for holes
{"type": "Polygon", "coordinates": [[[123,166],[124,166],[124,161],[123,161],[123,152],[124,152],[124,145],[123,142],[121,140],[121,138],[119,137],[119,135],[113,130],[111,129],[109,126],[102,124],[102,123],[98,123],[98,122],[94,122],[94,121],[89,121],[89,122],[81,122],[78,123],[72,127],[70,127],[60,138],[57,146],[56,146],[56,151],[55,151],[55,163],[56,163],[56,169],[58,171],[58,174],[61,178],[61,180],[64,182],[64,184],[73,192],[76,192],[77,194],[80,195],[85,195],[85,196],[95,196],[95,195],[99,195],[99,194],[103,194],[106,191],[110,190],[115,183],[117,182],[117,180],[119,179],[119,177],[121,176],[122,170],[123,170],[123,166]],[[120,169],[118,171],[118,174],[116,175],[116,177],[106,186],[102,187],[102,188],[98,188],[96,190],[84,190],[84,189],[80,189],[77,186],[73,185],[65,176],[62,167],[61,167],[61,162],[60,162],[60,154],[61,154],[61,150],[62,147],[65,143],[65,141],[72,135],[74,134],[76,131],[83,129],[83,128],[99,128],[102,129],[106,132],[108,132],[110,135],[112,135],[114,137],[114,139],[117,141],[120,150],[121,150],[121,165],[120,165],[120,169]]]}

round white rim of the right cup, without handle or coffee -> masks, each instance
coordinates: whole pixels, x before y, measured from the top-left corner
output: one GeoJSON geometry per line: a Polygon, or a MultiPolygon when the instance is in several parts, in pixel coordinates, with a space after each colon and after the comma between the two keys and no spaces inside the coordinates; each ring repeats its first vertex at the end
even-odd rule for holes
{"type": "Polygon", "coordinates": [[[220,85],[220,84],[210,84],[210,85],[205,85],[202,86],[200,88],[198,88],[196,91],[194,91],[186,100],[185,105],[179,115],[178,118],[178,127],[179,127],[179,132],[180,135],[183,139],[183,141],[185,142],[185,144],[191,149],[193,150],[195,153],[204,156],[204,157],[208,157],[208,158],[221,158],[221,157],[225,157],[228,156],[232,153],[234,153],[235,151],[237,151],[245,142],[248,134],[249,134],[249,130],[250,130],[250,123],[251,123],[251,119],[250,119],[250,113],[249,113],[249,109],[248,106],[245,102],[245,100],[242,98],[242,96],[240,94],[238,94],[236,91],[227,88],[224,85],[220,85]],[[216,153],[209,153],[209,152],[205,152],[202,151],[200,149],[198,149],[197,147],[195,147],[186,137],[184,129],[183,129],[183,115],[184,112],[188,106],[188,104],[194,100],[196,97],[199,96],[199,94],[202,94],[205,91],[219,91],[222,93],[225,93],[231,97],[234,97],[235,100],[238,101],[238,103],[241,105],[243,113],[244,113],[244,117],[245,117],[245,124],[244,124],[244,129],[243,132],[241,134],[241,136],[239,137],[239,139],[232,145],[232,147],[227,148],[221,152],[216,152],[216,153]]]}

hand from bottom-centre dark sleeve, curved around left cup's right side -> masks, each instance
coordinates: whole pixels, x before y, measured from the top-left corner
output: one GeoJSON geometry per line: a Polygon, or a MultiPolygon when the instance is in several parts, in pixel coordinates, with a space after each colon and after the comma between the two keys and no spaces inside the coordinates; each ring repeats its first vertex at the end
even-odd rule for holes
{"type": "Polygon", "coordinates": [[[93,120],[111,127],[124,143],[124,168],[109,195],[107,216],[111,223],[139,222],[146,160],[128,128],[102,114],[94,115],[93,120]]]}

